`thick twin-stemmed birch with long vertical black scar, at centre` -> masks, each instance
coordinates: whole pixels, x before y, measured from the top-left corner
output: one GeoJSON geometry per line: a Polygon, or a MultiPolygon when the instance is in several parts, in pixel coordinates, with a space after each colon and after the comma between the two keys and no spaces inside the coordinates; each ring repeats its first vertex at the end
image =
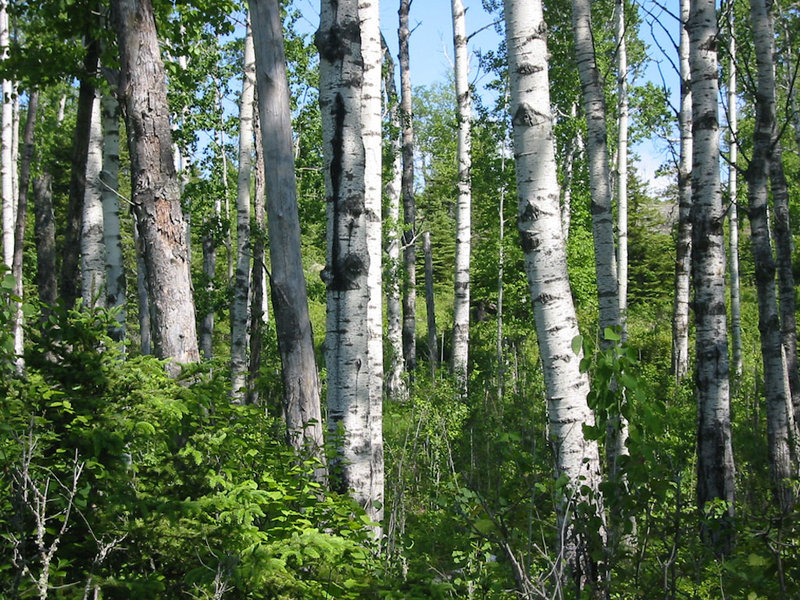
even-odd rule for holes
{"type": "MultiPolygon", "coordinates": [[[[335,488],[383,520],[380,31],[371,0],[323,0],[316,45],[328,195],[325,357],[335,488]],[[377,297],[376,297],[377,294],[377,297]],[[377,309],[377,314],[376,314],[377,309]]],[[[378,526],[376,534],[380,534],[378,526]]]]}

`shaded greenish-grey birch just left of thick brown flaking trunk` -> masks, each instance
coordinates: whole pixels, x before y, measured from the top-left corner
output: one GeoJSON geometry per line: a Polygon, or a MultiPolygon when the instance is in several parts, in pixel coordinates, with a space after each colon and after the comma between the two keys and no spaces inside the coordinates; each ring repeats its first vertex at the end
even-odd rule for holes
{"type": "Polygon", "coordinates": [[[100,195],[103,203],[103,241],[106,250],[106,301],[108,308],[119,309],[117,326],[111,334],[115,340],[121,342],[125,339],[127,285],[119,219],[119,103],[114,96],[104,94],[101,107],[103,170],[100,175],[100,195]]]}

